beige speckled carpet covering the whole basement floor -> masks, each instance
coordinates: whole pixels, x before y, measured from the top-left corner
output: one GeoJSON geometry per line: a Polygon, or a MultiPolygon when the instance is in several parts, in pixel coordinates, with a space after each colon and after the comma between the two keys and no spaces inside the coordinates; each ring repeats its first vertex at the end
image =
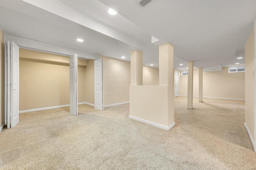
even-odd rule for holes
{"type": "Polygon", "coordinates": [[[244,101],[175,98],[170,131],[128,118],[129,105],[20,114],[0,133],[0,169],[256,169],[244,101]]]}

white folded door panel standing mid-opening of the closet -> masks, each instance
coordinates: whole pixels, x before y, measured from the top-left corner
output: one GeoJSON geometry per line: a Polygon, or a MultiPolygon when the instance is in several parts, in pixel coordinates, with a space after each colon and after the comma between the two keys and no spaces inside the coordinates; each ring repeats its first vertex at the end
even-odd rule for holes
{"type": "Polygon", "coordinates": [[[73,54],[69,59],[70,67],[70,113],[78,115],[78,96],[77,96],[77,54],[73,54]]]}

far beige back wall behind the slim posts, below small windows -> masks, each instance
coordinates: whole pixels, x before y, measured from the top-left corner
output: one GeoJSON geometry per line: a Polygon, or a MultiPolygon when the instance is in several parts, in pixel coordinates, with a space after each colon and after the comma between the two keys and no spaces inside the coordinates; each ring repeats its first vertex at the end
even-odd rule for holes
{"type": "MultiPolygon", "coordinates": [[[[203,96],[245,99],[244,80],[244,72],[228,73],[228,67],[222,67],[222,71],[203,72],[203,96]]],[[[188,76],[180,76],[180,95],[187,95],[187,86],[188,76]]],[[[198,69],[195,69],[193,96],[198,96],[198,88],[198,69]]]]}

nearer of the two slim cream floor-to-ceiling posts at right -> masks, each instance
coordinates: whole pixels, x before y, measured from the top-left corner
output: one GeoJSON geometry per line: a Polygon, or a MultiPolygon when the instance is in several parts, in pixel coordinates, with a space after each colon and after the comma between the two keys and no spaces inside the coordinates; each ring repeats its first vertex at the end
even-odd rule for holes
{"type": "Polygon", "coordinates": [[[188,109],[193,109],[193,74],[194,62],[188,62],[188,109]]]}

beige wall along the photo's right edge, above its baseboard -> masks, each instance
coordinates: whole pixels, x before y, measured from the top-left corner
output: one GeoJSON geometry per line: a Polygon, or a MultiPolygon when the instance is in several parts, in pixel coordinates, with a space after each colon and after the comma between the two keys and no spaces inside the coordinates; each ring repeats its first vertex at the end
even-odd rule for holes
{"type": "Polygon", "coordinates": [[[254,140],[254,30],[245,45],[245,66],[245,123],[254,140]]]}

